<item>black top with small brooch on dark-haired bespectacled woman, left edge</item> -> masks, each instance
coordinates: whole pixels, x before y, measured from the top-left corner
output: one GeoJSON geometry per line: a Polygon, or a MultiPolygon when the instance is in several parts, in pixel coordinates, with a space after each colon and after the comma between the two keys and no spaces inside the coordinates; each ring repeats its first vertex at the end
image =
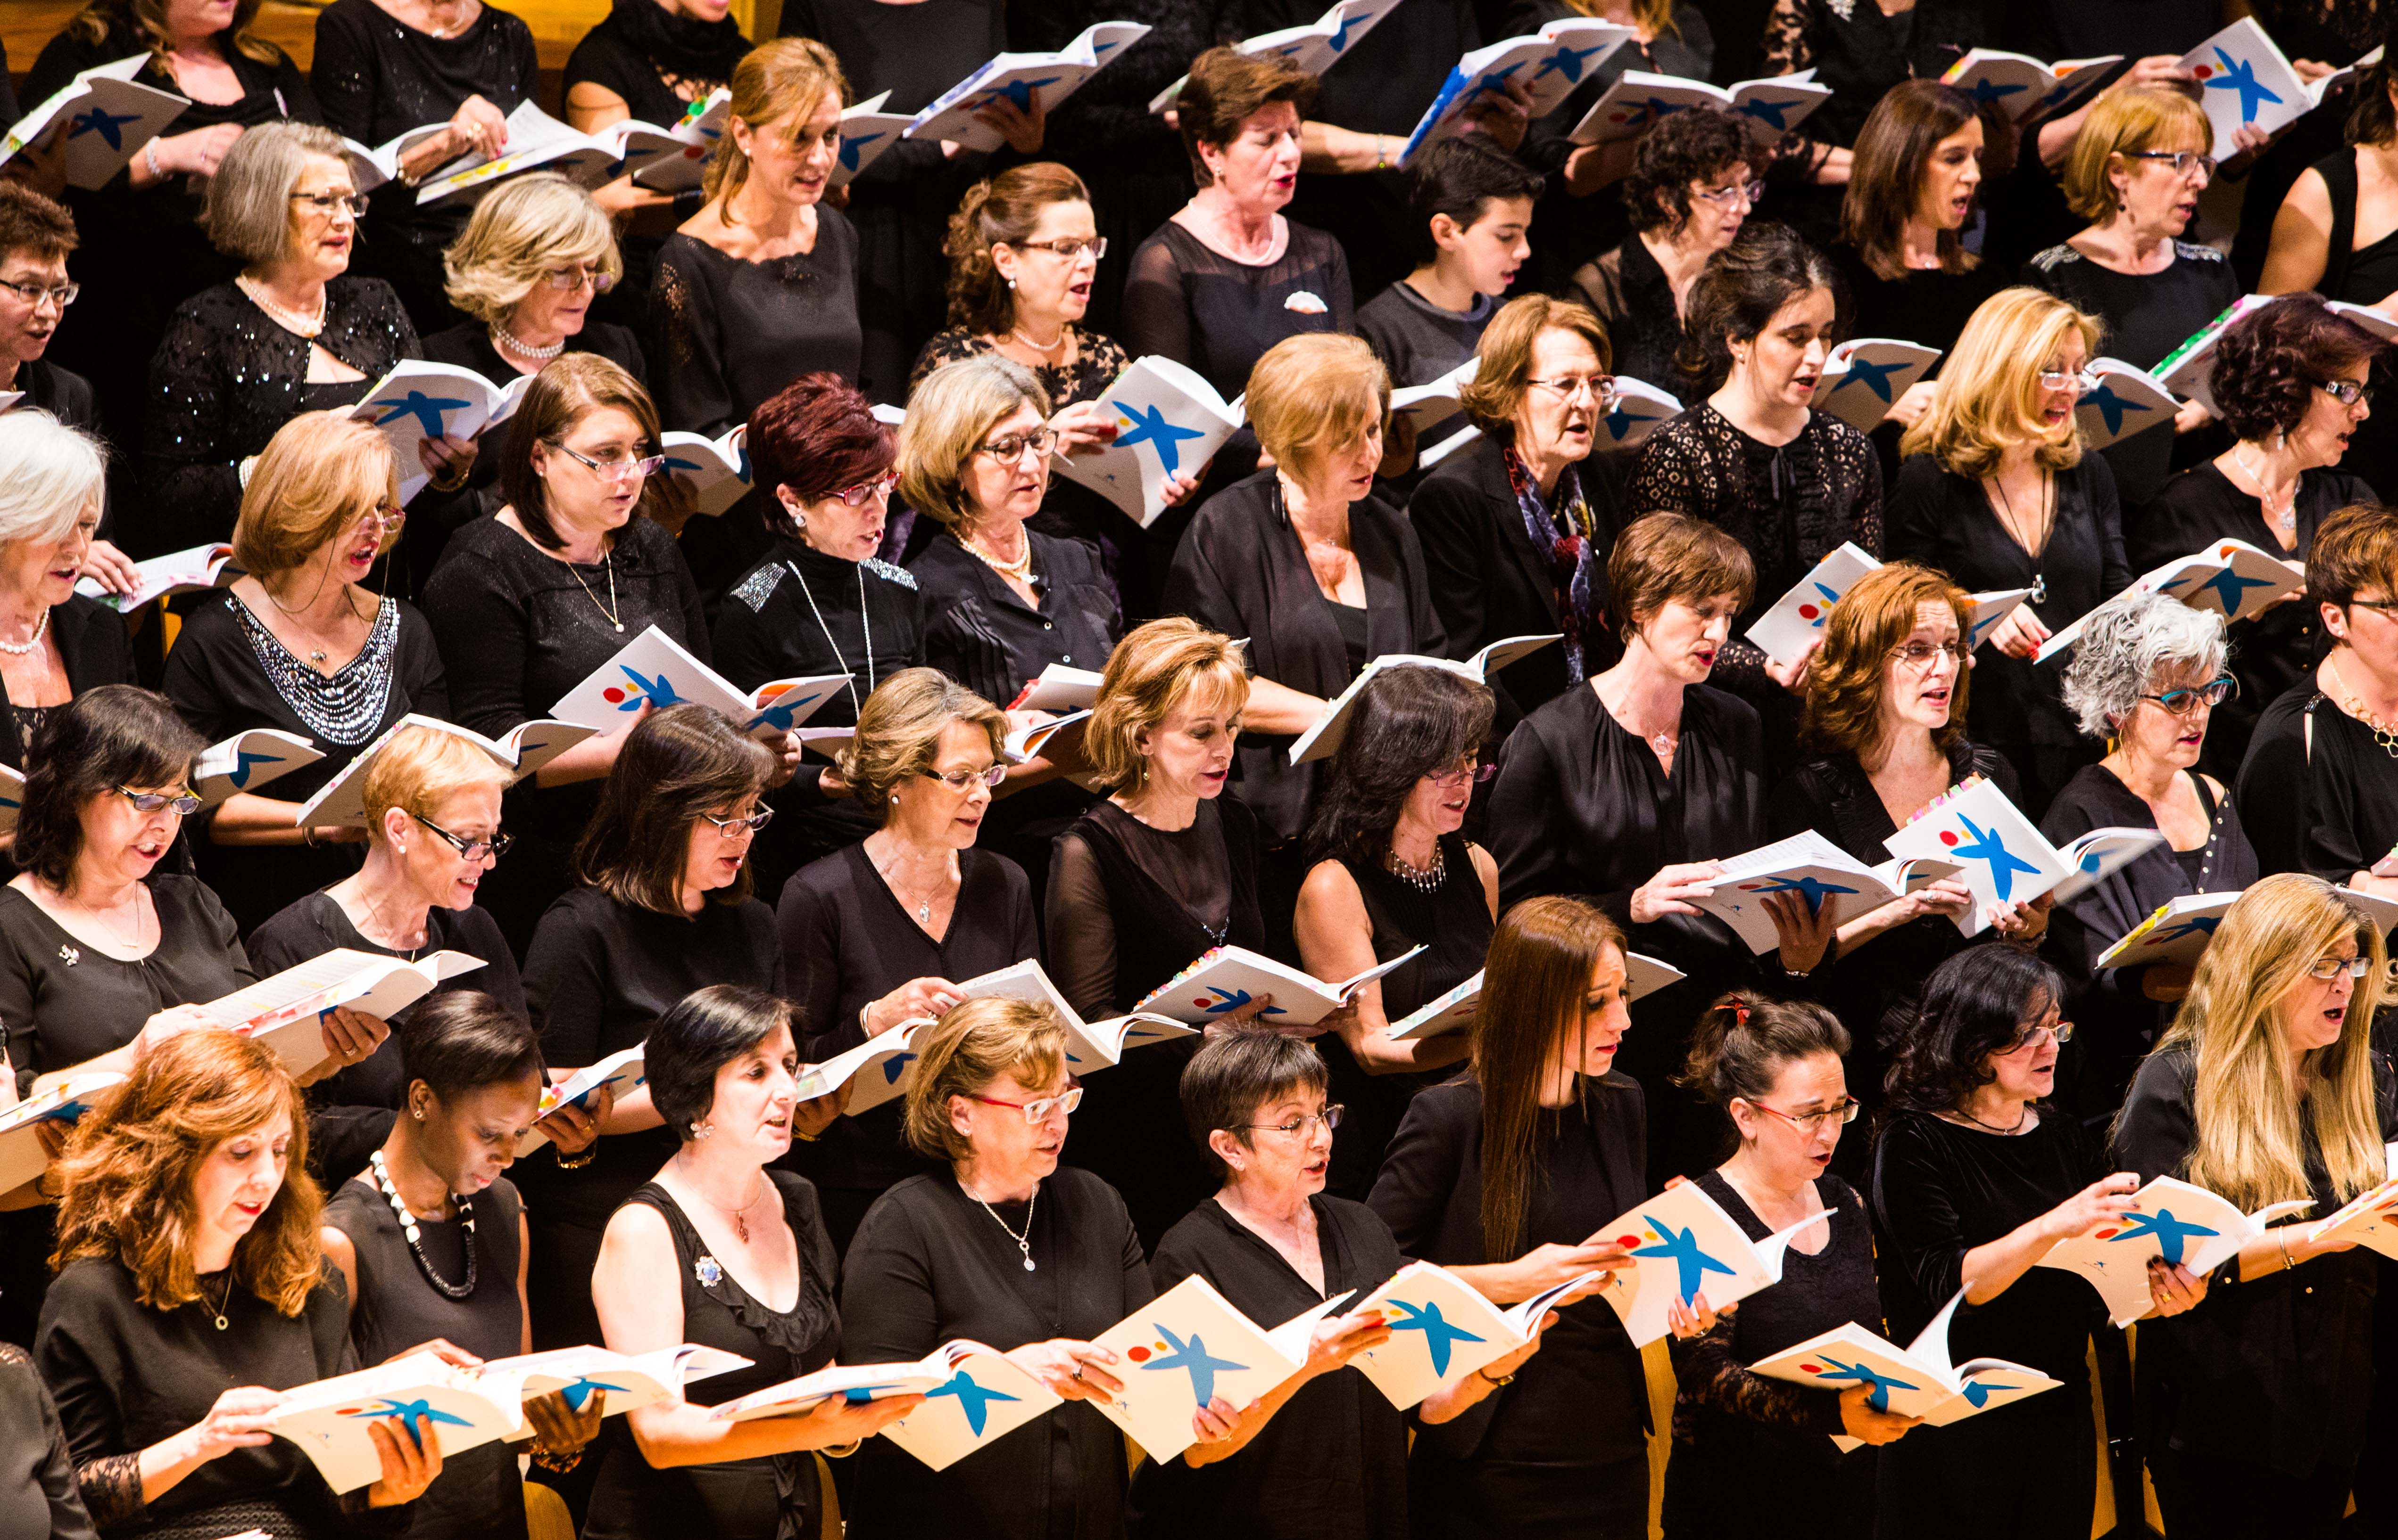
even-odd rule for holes
{"type": "Polygon", "coordinates": [[[204,1006],[259,975],[233,915],[197,877],[149,877],[158,946],[137,963],[77,941],[19,889],[0,889],[0,1042],[17,1090],[122,1049],[158,1011],[204,1006]]]}

